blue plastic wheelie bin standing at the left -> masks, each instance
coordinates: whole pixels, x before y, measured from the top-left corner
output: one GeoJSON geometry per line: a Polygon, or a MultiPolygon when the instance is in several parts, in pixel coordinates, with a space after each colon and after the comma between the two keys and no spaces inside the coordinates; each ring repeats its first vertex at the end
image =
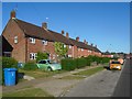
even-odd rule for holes
{"type": "Polygon", "coordinates": [[[15,85],[15,73],[16,68],[4,68],[4,85],[14,86],[15,85]]]}

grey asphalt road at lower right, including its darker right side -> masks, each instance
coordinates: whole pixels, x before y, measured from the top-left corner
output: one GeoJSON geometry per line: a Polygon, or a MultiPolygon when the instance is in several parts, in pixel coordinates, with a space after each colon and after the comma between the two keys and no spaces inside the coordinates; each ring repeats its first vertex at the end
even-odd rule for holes
{"type": "Polygon", "coordinates": [[[106,69],[80,81],[68,90],[64,97],[129,97],[130,61],[122,70],[106,69]]]}

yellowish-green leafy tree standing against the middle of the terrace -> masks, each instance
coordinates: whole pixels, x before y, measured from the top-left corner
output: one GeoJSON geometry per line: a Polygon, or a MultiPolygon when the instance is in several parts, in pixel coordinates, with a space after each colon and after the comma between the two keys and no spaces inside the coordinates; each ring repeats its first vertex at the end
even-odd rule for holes
{"type": "Polygon", "coordinates": [[[66,57],[66,54],[68,52],[68,47],[61,42],[55,42],[55,53],[59,56],[59,58],[66,57]]]}

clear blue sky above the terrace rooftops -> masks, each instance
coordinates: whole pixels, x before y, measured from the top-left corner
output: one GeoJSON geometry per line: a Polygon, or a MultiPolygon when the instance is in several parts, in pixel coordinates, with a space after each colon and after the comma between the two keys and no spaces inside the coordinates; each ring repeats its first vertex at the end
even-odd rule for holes
{"type": "Polygon", "coordinates": [[[129,2],[3,2],[2,30],[15,7],[20,20],[40,26],[47,22],[50,30],[64,30],[73,38],[79,36],[80,41],[96,44],[102,52],[130,52],[129,2]]]}

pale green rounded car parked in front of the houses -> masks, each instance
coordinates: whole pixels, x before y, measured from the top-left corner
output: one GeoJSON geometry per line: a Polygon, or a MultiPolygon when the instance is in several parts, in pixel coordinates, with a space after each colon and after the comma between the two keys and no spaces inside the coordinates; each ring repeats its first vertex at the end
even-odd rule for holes
{"type": "Polygon", "coordinates": [[[48,72],[62,69],[61,64],[52,63],[50,59],[42,59],[36,65],[40,69],[44,69],[48,72]]]}

